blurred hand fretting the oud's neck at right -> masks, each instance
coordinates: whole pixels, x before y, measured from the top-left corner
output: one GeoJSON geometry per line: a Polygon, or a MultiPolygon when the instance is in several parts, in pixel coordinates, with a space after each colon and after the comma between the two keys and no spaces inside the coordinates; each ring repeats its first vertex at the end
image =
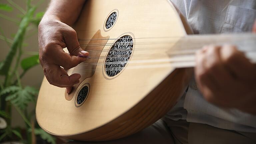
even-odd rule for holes
{"type": "Polygon", "coordinates": [[[235,46],[197,52],[195,79],[207,101],[256,114],[256,66],[235,46]]]}

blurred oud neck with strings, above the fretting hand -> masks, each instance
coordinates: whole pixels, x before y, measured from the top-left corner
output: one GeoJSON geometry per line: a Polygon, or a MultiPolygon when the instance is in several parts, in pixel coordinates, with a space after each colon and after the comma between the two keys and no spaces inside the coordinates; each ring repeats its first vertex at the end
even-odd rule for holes
{"type": "Polygon", "coordinates": [[[188,35],[179,39],[167,53],[176,61],[176,68],[194,67],[197,50],[205,45],[225,44],[236,45],[252,63],[256,63],[256,34],[252,33],[188,35]]]}

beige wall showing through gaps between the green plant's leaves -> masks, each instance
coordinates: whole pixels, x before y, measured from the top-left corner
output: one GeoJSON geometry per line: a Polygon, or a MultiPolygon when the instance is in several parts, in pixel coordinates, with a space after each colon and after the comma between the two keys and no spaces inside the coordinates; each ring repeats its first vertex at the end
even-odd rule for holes
{"type": "MultiPolygon", "coordinates": [[[[15,2],[16,4],[18,4],[20,7],[22,7],[23,9],[26,9],[26,0],[13,0],[13,2],[15,2]]],[[[32,4],[36,4],[37,2],[39,2],[39,0],[32,0],[32,4]]],[[[38,7],[38,9],[36,10],[36,12],[44,12],[49,4],[50,0],[43,0],[43,3],[38,7]]],[[[0,3],[6,3],[9,4],[6,0],[0,0],[0,3]]],[[[10,4],[9,4],[10,5],[10,4]]],[[[11,6],[11,5],[10,5],[11,6]]],[[[18,17],[18,15],[21,14],[21,12],[13,7],[13,11],[12,12],[4,12],[4,11],[0,11],[0,13],[15,18],[17,20],[20,20],[20,18],[18,17]]],[[[11,22],[8,21],[4,18],[0,17],[0,28],[3,30],[5,36],[7,38],[13,39],[13,35],[17,32],[18,30],[18,24],[16,24],[15,22],[11,22]]],[[[31,30],[29,30],[26,33],[26,39],[25,39],[25,43],[27,43],[27,46],[23,48],[23,58],[31,56],[31,54],[33,53],[38,53],[38,39],[37,39],[37,27],[35,25],[31,25],[30,26],[31,30]]],[[[0,33],[0,35],[2,35],[0,33]]],[[[0,39],[0,61],[4,60],[8,51],[9,51],[9,46],[7,45],[7,43],[4,40],[0,39]]],[[[21,70],[19,70],[19,72],[22,72],[21,70]]],[[[43,70],[41,65],[38,65],[36,67],[31,68],[26,75],[24,75],[24,77],[21,79],[21,82],[23,85],[29,85],[29,86],[34,86],[37,89],[40,88],[42,79],[43,79],[43,70]]],[[[0,81],[3,81],[3,77],[0,76],[0,81]]],[[[30,105],[29,109],[33,110],[35,107],[35,105],[30,105]]],[[[23,120],[20,117],[20,115],[14,110],[12,109],[12,126],[23,126],[23,120]]]]}

